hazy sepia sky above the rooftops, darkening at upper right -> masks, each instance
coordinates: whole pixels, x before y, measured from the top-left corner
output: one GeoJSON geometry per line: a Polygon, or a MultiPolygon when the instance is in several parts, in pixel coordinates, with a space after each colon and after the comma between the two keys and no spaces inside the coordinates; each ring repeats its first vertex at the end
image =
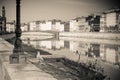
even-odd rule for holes
{"type": "MultiPolygon", "coordinates": [[[[16,18],[16,0],[0,0],[6,8],[7,22],[16,18]]],[[[117,0],[21,0],[21,22],[60,19],[69,21],[75,17],[99,14],[119,6],[117,0]]]]}

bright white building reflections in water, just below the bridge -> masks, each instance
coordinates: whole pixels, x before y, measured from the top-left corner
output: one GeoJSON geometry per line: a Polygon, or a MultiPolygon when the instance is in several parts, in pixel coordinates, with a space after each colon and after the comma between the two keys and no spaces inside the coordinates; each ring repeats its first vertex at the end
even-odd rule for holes
{"type": "Polygon", "coordinates": [[[46,48],[52,50],[59,50],[64,48],[63,40],[30,40],[30,38],[23,41],[25,44],[31,45],[34,48],[46,48]]]}

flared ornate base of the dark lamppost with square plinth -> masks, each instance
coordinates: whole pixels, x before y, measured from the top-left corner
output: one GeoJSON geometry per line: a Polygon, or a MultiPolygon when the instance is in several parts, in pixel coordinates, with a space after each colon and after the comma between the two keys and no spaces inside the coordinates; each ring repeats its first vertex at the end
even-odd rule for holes
{"type": "Polygon", "coordinates": [[[9,56],[9,61],[10,64],[25,63],[27,61],[27,57],[22,49],[22,40],[20,37],[16,37],[13,54],[9,56]]]}

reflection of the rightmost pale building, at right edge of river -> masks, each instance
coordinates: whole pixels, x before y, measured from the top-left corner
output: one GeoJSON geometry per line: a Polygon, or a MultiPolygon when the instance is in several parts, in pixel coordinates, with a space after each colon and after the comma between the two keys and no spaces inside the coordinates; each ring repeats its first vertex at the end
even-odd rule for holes
{"type": "Polygon", "coordinates": [[[110,63],[120,62],[120,45],[101,44],[100,57],[110,63]]]}

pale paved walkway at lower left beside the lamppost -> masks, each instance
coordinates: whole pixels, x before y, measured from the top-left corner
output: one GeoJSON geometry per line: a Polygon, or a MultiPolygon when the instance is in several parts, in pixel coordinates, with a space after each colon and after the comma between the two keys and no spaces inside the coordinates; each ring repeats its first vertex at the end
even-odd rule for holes
{"type": "Polygon", "coordinates": [[[13,45],[0,38],[0,80],[57,80],[30,62],[10,64],[13,45]]]}

